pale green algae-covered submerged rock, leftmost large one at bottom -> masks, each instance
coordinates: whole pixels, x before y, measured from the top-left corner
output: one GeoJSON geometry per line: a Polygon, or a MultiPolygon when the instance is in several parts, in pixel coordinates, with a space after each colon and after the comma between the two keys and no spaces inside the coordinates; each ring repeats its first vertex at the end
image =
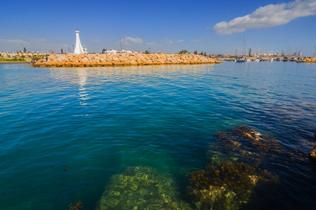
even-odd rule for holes
{"type": "Polygon", "coordinates": [[[98,209],[192,209],[178,194],[168,174],[150,167],[129,167],[112,176],[98,209]]]}

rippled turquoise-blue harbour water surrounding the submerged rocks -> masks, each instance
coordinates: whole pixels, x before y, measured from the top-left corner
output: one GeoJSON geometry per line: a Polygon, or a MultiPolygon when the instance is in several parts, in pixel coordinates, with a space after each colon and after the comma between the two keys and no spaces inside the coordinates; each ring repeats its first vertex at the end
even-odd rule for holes
{"type": "Polygon", "coordinates": [[[186,175],[239,125],[286,148],[261,165],[281,184],[246,208],[315,209],[315,64],[0,64],[0,209],[95,209],[110,177],[137,165],[172,174],[190,202],[186,175]]]}

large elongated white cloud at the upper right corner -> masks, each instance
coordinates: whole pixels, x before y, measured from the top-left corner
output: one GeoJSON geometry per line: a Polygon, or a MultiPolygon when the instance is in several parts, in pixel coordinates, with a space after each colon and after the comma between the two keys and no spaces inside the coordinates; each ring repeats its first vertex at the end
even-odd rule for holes
{"type": "Polygon", "coordinates": [[[315,0],[296,0],[289,3],[261,6],[250,15],[239,17],[230,22],[218,22],[213,27],[215,34],[240,33],[246,29],[262,29],[284,25],[300,17],[316,15],[315,0]]]}

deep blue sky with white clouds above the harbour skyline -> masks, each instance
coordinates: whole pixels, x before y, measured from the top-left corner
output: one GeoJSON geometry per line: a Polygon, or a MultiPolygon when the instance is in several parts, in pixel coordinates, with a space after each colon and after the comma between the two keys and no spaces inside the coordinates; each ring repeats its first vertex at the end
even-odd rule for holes
{"type": "Polygon", "coordinates": [[[2,1],[0,52],[72,50],[75,33],[89,52],[208,54],[295,52],[316,46],[316,0],[302,1],[2,1]]]}

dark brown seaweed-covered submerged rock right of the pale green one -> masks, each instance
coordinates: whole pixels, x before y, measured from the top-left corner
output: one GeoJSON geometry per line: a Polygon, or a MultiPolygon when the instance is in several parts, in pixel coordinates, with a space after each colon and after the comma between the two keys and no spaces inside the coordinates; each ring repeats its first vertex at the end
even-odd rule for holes
{"type": "Polygon", "coordinates": [[[191,172],[189,179],[187,193],[197,209],[239,209],[249,201],[258,183],[277,181],[277,176],[242,162],[223,162],[191,172]]]}

